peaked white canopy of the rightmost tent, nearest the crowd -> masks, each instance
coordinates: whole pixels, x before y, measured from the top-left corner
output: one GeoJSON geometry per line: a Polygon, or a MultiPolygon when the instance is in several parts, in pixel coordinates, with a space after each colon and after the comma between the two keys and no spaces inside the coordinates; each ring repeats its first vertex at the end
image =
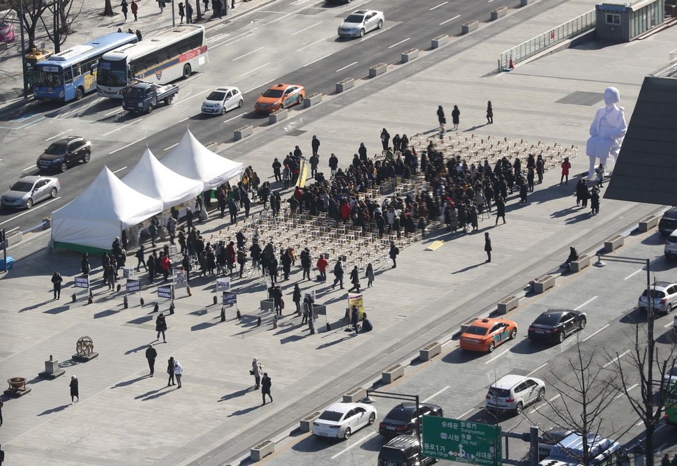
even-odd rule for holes
{"type": "Polygon", "coordinates": [[[210,151],[195,139],[191,130],[181,138],[162,164],[173,172],[202,181],[204,190],[216,188],[244,171],[244,164],[233,162],[210,151]]]}

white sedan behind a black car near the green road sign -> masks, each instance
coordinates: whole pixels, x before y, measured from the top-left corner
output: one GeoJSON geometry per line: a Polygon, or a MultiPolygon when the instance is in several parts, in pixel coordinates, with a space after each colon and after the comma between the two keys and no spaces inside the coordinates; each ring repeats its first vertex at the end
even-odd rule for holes
{"type": "Polygon", "coordinates": [[[313,435],[348,439],[356,430],[371,426],[376,420],[376,409],[362,403],[334,403],[313,421],[313,435]]]}

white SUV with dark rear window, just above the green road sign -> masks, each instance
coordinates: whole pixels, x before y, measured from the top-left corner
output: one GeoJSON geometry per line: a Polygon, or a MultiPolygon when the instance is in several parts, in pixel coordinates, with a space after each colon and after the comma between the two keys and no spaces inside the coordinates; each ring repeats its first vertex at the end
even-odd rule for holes
{"type": "Polygon", "coordinates": [[[492,414],[514,411],[516,414],[531,403],[545,398],[545,382],[524,375],[504,375],[489,387],[484,405],[492,414]]]}

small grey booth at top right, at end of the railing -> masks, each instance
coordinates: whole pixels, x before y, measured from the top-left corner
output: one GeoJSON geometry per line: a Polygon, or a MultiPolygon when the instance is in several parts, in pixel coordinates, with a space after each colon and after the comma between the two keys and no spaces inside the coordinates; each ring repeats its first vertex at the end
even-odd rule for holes
{"type": "Polygon", "coordinates": [[[660,26],[665,18],[665,0],[631,0],[595,5],[597,40],[630,42],[660,26]]]}

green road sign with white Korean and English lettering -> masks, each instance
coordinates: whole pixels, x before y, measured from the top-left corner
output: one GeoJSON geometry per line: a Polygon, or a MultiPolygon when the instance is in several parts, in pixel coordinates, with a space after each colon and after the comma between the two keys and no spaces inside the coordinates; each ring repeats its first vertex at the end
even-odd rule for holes
{"type": "Polygon", "coordinates": [[[440,460],[500,465],[500,435],[500,426],[423,416],[423,454],[440,460]]]}

